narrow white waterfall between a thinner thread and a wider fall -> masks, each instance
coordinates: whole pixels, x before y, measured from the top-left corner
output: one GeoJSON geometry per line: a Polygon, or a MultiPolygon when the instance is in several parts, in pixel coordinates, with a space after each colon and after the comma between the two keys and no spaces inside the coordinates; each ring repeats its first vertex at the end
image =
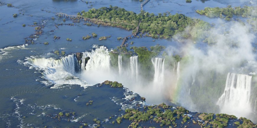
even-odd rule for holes
{"type": "Polygon", "coordinates": [[[131,77],[136,78],[138,77],[138,56],[131,56],[129,58],[130,62],[130,69],[131,69],[131,77]]]}

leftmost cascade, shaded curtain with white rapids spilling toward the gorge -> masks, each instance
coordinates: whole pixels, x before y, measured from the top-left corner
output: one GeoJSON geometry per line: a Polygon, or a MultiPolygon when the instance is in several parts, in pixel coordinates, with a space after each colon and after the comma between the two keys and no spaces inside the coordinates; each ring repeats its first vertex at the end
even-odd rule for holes
{"type": "Polygon", "coordinates": [[[76,69],[79,67],[75,54],[62,57],[55,60],[53,58],[36,58],[27,59],[28,64],[33,67],[43,70],[43,78],[51,83],[55,83],[54,87],[62,84],[78,84],[81,86],[88,86],[89,84],[84,80],[76,77],[76,69]]]}

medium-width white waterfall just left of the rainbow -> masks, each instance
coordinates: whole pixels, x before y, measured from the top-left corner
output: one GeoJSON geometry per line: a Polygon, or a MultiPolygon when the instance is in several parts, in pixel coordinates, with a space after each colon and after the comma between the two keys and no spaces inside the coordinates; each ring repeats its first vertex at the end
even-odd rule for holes
{"type": "Polygon", "coordinates": [[[154,65],[154,82],[163,83],[164,81],[164,61],[165,59],[162,61],[162,58],[152,59],[154,65]]]}

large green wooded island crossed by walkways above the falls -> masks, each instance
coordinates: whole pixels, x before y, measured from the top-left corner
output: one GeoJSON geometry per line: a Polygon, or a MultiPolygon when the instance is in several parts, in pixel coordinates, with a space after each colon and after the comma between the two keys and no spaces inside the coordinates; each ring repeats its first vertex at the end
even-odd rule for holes
{"type": "MultiPolygon", "coordinates": [[[[183,14],[171,15],[164,13],[156,16],[153,13],[150,14],[145,11],[141,11],[140,14],[136,14],[117,6],[110,6],[109,8],[102,7],[100,9],[93,8],[88,12],[82,11],[81,13],[82,16],[88,18],[134,24],[126,25],[103,23],[104,25],[117,26],[126,30],[136,29],[136,25],[139,24],[139,21],[141,20],[139,31],[141,33],[148,33],[148,36],[154,38],[170,38],[174,34],[184,31],[187,26],[194,26],[201,21],[199,19],[191,19],[183,14]]],[[[189,28],[189,30],[191,29],[192,28],[189,28]]],[[[186,37],[190,37],[190,35],[187,35],[186,37]]]]}

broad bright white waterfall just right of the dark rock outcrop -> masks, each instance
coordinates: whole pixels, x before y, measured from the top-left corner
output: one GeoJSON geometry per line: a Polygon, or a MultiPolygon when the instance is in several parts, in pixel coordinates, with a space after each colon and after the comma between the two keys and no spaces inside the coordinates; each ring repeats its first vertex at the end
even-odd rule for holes
{"type": "Polygon", "coordinates": [[[91,52],[83,52],[82,54],[82,69],[87,70],[102,70],[102,71],[110,71],[110,56],[109,51],[104,46],[94,46],[95,50],[91,52]],[[85,65],[85,58],[90,57],[85,65]]]}

